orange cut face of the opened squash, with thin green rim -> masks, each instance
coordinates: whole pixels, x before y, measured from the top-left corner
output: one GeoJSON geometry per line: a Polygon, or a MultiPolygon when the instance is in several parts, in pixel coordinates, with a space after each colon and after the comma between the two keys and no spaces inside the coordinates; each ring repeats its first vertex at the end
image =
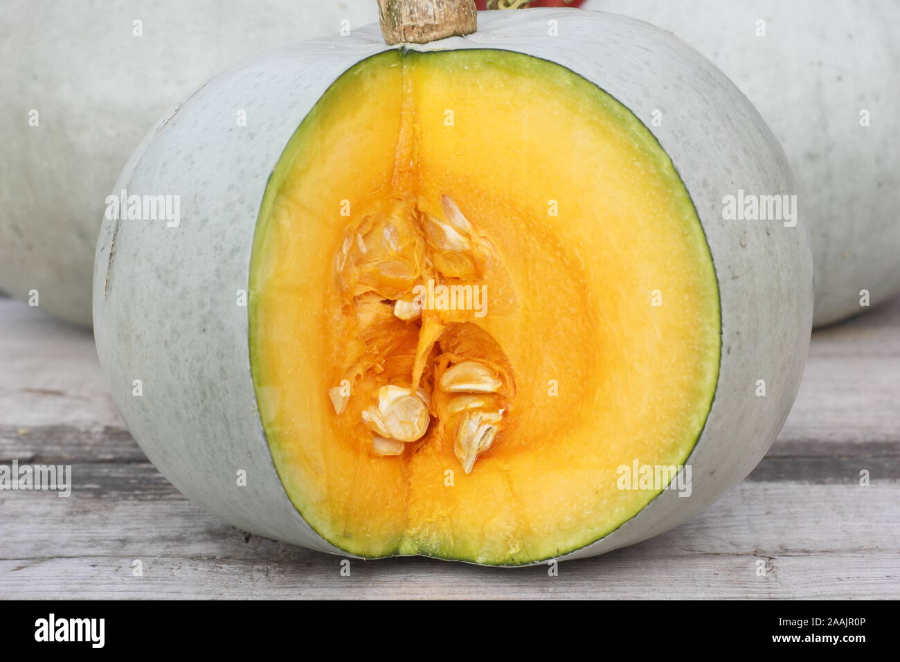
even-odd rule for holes
{"type": "Polygon", "coordinates": [[[269,180],[250,266],[259,414],[331,544],[517,565],[616,530],[716,392],[716,273],[635,114],[554,63],[389,50],[269,180]],[[633,485],[634,486],[634,485],[633,485]]]}

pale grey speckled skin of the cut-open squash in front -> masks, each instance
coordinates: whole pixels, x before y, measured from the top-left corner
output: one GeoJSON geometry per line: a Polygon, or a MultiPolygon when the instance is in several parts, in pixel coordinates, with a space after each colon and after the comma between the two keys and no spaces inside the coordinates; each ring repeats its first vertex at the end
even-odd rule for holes
{"type": "MultiPolygon", "coordinates": [[[[347,555],[311,531],[273,467],[257,415],[247,351],[251,241],[266,179],[329,84],[385,50],[377,27],[257,59],[202,87],[141,143],[116,188],[182,196],[179,228],[103,222],[94,331],[112,393],[153,463],[193,500],[259,534],[347,555]],[[234,109],[246,108],[246,128],[234,109]],[[118,228],[118,230],[116,229],[118,228]],[[112,264],[110,253],[114,237],[112,264]],[[108,295],[105,294],[109,285],[108,295]],[[142,379],[144,394],[132,395],[142,379]],[[238,469],[247,486],[236,486],[238,469]]],[[[644,540],[688,519],[746,476],[785,421],[803,371],[812,317],[806,231],[724,221],[738,187],[791,193],[778,142],[738,90],[695,51],[645,23],[579,10],[480,15],[480,32],[421,50],[517,50],[572,68],[652,127],[707,231],[722,303],[715,403],[694,450],[693,494],[663,492],[632,521],[571,558],[644,540]],[[559,37],[547,35],[558,22],[559,37]],[[754,394],[756,381],[767,394],[754,394]]]]}

